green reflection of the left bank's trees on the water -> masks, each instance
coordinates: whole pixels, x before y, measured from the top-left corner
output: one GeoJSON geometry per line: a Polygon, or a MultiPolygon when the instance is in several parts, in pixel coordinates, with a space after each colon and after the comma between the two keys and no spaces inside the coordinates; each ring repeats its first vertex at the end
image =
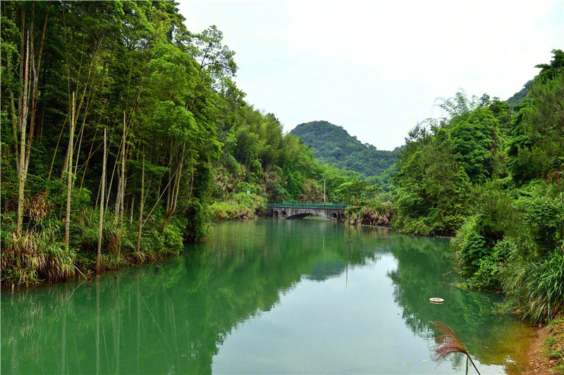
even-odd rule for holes
{"type": "MultiPolygon", "coordinates": [[[[344,271],[344,228],[220,224],[208,243],[190,246],[158,274],[154,266],[135,267],[90,288],[68,282],[3,294],[1,373],[210,373],[231,330],[271,310],[302,275],[344,271]]],[[[349,264],[364,262],[354,243],[349,264]]]]}

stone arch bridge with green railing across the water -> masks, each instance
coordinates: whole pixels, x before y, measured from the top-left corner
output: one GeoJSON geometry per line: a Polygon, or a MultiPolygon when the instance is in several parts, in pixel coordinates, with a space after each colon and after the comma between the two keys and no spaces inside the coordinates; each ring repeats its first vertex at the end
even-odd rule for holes
{"type": "Polygon", "coordinates": [[[343,221],[347,207],[333,203],[269,203],[266,205],[266,215],[275,219],[302,219],[306,216],[318,215],[329,220],[343,221]]]}

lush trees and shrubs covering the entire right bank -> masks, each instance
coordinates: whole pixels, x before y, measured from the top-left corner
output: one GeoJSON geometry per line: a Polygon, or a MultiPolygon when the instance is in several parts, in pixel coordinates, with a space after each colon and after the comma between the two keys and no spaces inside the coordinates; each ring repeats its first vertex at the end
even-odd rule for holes
{"type": "Polygon", "coordinates": [[[443,100],[445,117],[408,134],[394,177],[392,224],[454,236],[467,285],[503,291],[536,322],[564,310],[564,53],[553,53],[514,110],[486,94],[443,100]]]}

